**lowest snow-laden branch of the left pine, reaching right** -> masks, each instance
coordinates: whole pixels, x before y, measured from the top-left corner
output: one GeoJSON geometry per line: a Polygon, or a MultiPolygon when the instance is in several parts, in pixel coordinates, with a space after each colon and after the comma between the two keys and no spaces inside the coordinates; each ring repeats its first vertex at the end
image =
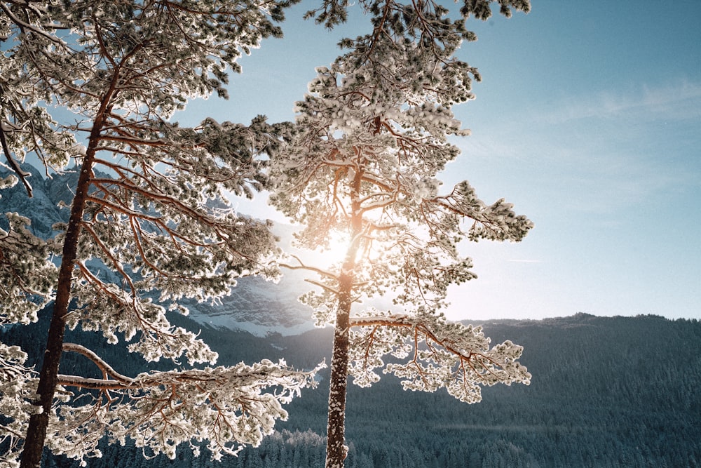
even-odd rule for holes
{"type": "MultiPolygon", "coordinates": [[[[97,354],[80,345],[64,345],[93,361],[103,378],[59,375],[59,385],[77,392],[83,406],[61,406],[50,438],[54,453],[83,460],[99,456],[103,436],[125,443],[133,439],[147,457],[164,453],[175,458],[175,447],[188,443],[198,454],[203,441],[212,457],[236,455],[245,445],[258,446],[272,434],[275,420],[286,420],[283,404],[301,390],[315,387],[312,370],[294,370],[285,361],[264,360],[251,366],[172,370],[126,377],[97,354]],[[94,391],[97,391],[95,393],[94,391]]],[[[84,461],[84,460],[83,460],[84,461]]]]}

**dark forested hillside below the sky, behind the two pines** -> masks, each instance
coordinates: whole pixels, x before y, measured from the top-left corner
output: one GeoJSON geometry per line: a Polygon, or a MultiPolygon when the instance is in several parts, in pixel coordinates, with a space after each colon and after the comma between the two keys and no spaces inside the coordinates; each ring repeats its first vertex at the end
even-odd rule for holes
{"type": "MultiPolygon", "coordinates": [[[[43,314],[46,316],[46,314],[43,314]]],[[[189,326],[195,323],[182,319],[189,326]]],[[[2,331],[40,355],[38,327],[2,331]]],[[[349,467],[695,467],[701,464],[701,323],[658,316],[602,318],[586,314],[543,321],[484,323],[494,342],[524,345],[529,387],[490,387],[475,405],[445,392],[402,391],[385,376],[348,395],[349,467]]],[[[81,337],[87,335],[81,333],[81,337]]],[[[279,359],[311,367],[327,352],[330,330],[255,337],[205,329],[220,363],[279,359]]],[[[75,339],[69,337],[69,340],[75,339]]],[[[90,347],[102,338],[93,335],[90,347]]],[[[116,370],[135,375],[139,357],[107,347],[116,370]]],[[[328,357],[328,356],[327,356],[328,357]]],[[[62,372],[92,366],[66,354],[62,372]]],[[[326,376],[326,374],[322,374],[326,376]]],[[[186,448],[177,460],[146,460],[139,450],[105,446],[90,467],[316,467],[325,452],[327,388],[305,392],[287,406],[290,420],[259,448],[217,464],[186,448]]],[[[47,467],[73,467],[64,458],[47,467]]]]}

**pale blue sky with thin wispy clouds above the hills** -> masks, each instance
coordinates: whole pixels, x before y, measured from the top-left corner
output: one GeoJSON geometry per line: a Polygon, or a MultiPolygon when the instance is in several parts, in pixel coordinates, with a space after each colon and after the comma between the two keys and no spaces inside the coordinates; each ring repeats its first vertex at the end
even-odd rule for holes
{"type": "MultiPolygon", "coordinates": [[[[454,108],[472,136],[442,175],[484,201],[505,197],[536,227],[517,244],[466,244],[479,278],[451,290],[454,319],[576,312],[701,319],[701,2],[533,0],[511,19],[468,22],[460,57],[477,99],[454,108]]],[[[294,118],[314,67],[359,8],[328,32],[288,14],[285,39],[241,60],[231,99],[193,102],[182,121],[294,118]]],[[[264,199],[240,209],[280,219],[264,199]]]]}

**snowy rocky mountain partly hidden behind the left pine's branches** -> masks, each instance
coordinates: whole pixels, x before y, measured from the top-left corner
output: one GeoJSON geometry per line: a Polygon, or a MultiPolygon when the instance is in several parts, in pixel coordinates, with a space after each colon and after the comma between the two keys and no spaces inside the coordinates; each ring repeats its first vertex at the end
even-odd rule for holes
{"type": "MultiPolygon", "coordinates": [[[[17,212],[32,220],[30,230],[42,239],[56,234],[51,226],[56,222],[67,222],[69,208],[61,207],[72,201],[72,187],[76,186],[77,173],[67,171],[62,175],[44,178],[32,165],[22,168],[29,172],[29,182],[34,196],[29,198],[21,184],[0,192],[0,228],[6,229],[4,213],[17,212]]],[[[0,178],[8,173],[0,171],[0,178]]],[[[290,239],[291,227],[278,227],[279,235],[290,239]]],[[[278,232],[276,232],[278,234],[278,232]]],[[[222,303],[198,303],[184,301],[190,316],[207,327],[224,327],[231,330],[246,330],[257,335],[266,333],[301,333],[313,328],[311,310],[297,301],[300,291],[308,285],[297,274],[287,274],[279,283],[266,282],[259,277],[238,281],[231,295],[223,297],[222,303]]]]}

